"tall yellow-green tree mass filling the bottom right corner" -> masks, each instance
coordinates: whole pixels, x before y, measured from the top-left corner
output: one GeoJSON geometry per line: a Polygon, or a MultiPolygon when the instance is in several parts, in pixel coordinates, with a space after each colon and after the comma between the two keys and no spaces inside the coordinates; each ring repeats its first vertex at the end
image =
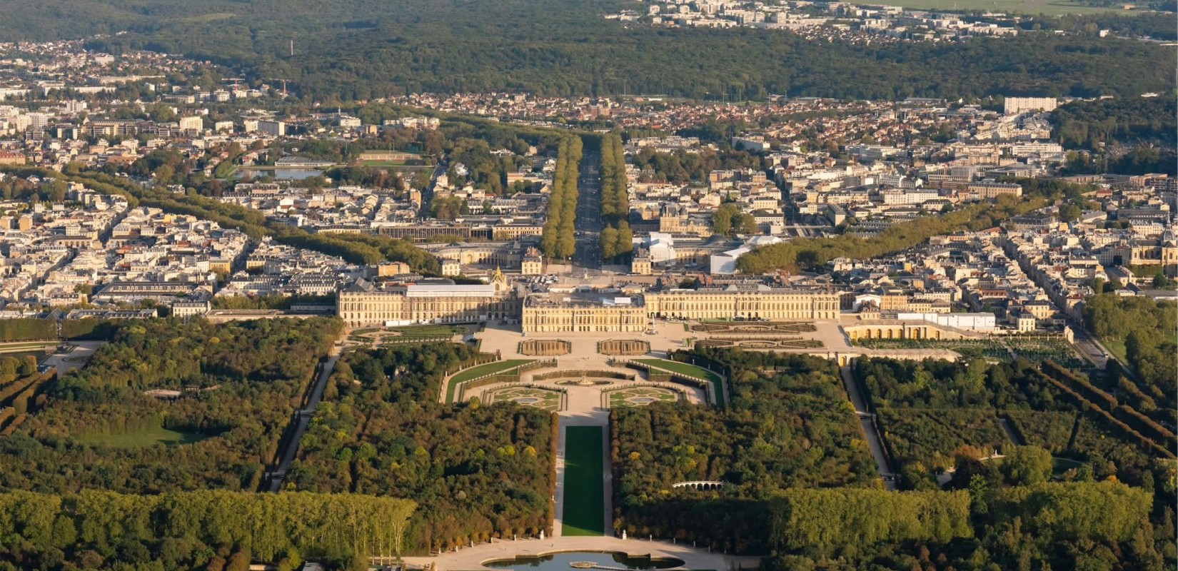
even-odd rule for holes
{"type": "MultiPolygon", "coordinates": [[[[1158,498],[1173,496],[1173,486],[1158,498]]],[[[767,571],[1091,569],[1174,564],[1173,510],[1118,482],[966,491],[788,490],[762,500],[767,571]]],[[[754,524],[754,525],[756,525],[754,524]]]]}

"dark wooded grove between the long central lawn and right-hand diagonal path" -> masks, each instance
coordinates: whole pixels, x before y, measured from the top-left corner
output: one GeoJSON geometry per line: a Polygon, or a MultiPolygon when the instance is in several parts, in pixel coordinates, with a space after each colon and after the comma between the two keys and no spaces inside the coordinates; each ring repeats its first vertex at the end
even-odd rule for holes
{"type": "Polygon", "coordinates": [[[808,356],[696,350],[732,367],[728,406],[614,409],[614,527],[715,549],[763,552],[760,507],[792,487],[878,485],[838,367],[808,356]],[[773,369],[773,371],[769,371],[773,369]],[[721,490],[671,487],[720,480],[721,490]]]}

